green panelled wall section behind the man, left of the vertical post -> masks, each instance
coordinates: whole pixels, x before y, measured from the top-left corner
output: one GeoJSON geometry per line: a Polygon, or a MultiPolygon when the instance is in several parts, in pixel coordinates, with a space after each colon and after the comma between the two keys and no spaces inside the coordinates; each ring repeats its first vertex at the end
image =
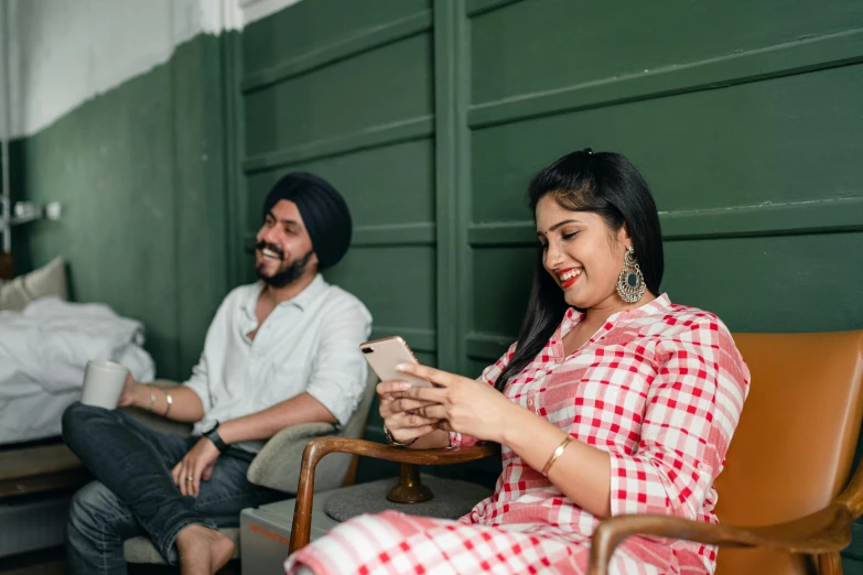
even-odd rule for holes
{"type": "MultiPolygon", "coordinates": [[[[304,1],[244,30],[241,113],[247,242],[283,173],[330,180],[354,218],[347,257],[327,281],[438,362],[434,41],[428,0],[304,1]],[[369,10],[373,7],[373,10],[369,10]]],[[[251,260],[237,268],[252,279],[251,260]]],[[[367,437],[384,441],[377,406],[367,437]]],[[[395,473],[360,464],[362,479],[395,473]]]]}

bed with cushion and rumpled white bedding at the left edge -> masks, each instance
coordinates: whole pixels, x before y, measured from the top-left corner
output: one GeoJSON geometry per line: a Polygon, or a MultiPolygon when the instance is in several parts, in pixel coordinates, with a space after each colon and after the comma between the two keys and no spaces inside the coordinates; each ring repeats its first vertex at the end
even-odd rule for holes
{"type": "Polygon", "coordinates": [[[88,474],[61,438],[89,359],[154,377],[143,326],[105,304],[66,301],[57,258],[0,281],[0,557],[63,544],[72,493],[88,474]]]}

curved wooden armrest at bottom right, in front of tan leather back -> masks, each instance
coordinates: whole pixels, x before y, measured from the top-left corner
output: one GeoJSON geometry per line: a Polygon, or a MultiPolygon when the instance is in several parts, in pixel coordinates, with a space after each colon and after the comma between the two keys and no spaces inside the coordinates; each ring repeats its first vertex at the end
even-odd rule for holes
{"type": "Polygon", "coordinates": [[[606,575],[617,545],[630,535],[652,535],[697,541],[726,547],[772,547],[791,553],[839,552],[851,542],[854,517],[841,502],[809,516],[775,525],[735,528],[659,514],[618,516],[605,519],[593,533],[589,575],[606,575]]]}

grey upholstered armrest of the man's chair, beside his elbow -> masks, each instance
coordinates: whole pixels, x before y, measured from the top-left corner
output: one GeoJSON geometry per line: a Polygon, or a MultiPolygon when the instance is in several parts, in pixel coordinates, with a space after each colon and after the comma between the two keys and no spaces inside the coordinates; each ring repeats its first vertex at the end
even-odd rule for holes
{"type": "Polygon", "coordinates": [[[246,478],[255,485],[293,492],[300,482],[300,466],[305,446],[322,435],[335,433],[326,422],[300,423],[283,428],[267,442],[252,459],[246,478]]]}

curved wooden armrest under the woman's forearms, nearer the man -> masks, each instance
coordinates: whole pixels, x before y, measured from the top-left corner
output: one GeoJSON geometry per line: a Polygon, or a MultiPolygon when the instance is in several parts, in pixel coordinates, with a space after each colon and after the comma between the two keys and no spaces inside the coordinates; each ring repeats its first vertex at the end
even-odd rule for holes
{"type": "Polygon", "coordinates": [[[314,491],[314,468],[317,462],[330,453],[352,453],[365,455],[375,459],[407,463],[414,465],[450,465],[473,462],[499,453],[495,444],[474,447],[444,447],[440,449],[407,449],[393,447],[366,440],[349,440],[345,437],[319,437],[312,440],[303,452],[303,463],[300,468],[300,484],[296,489],[296,505],[293,511],[291,527],[291,544],[289,553],[309,544],[312,527],[312,496],[314,491]]]}

